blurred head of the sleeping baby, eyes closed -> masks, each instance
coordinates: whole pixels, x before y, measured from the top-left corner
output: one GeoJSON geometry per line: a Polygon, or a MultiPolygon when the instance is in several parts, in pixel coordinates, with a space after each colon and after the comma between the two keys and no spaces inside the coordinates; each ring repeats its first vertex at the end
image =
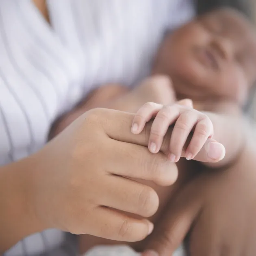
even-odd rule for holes
{"type": "Polygon", "coordinates": [[[244,104],[256,81],[253,26],[233,9],[198,17],[167,35],[153,73],[170,76],[182,98],[244,104]]]}

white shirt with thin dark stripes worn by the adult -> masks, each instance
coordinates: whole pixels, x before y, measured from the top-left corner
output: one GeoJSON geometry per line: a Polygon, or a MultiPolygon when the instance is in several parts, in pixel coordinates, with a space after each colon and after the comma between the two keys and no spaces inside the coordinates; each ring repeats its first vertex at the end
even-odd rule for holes
{"type": "MultiPolygon", "coordinates": [[[[48,0],[50,26],[32,1],[0,0],[0,165],[40,149],[54,119],[94,87],[145,77],[165,30],[193,16],[191,1],[48,0]]],[[[43,254],[63,241],[46,230],[5,255],[43,254]]],[[[62,248],[72,254],[67,241],[62,248]]]]}

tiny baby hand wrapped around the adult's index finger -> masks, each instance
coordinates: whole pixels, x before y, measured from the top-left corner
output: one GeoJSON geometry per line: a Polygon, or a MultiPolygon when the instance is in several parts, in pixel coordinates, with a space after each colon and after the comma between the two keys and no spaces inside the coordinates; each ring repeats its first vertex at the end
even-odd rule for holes
{"type": "MultiPolygon", "coordinates": [[[[167,106],[153,102],[144,104],[133,120],[132,132],[141,133],[146,122],[150,121],[152,117],[155,119],[151,127],[148,144],[152,153],[159,152],[169,126],[175,123],[168,152],[168,157],[173,162],[179,161],[191,132],[193,135],[185,152],[187,160],[193,159],[200,152],[207,139],[213,137],[213,124],[209,117],[196,111],[190,100],[183,100],[167,106]]],[[[220,155],[224,157],[225,148],[223,145],[220,150],[222,150],[220,155]]]]}

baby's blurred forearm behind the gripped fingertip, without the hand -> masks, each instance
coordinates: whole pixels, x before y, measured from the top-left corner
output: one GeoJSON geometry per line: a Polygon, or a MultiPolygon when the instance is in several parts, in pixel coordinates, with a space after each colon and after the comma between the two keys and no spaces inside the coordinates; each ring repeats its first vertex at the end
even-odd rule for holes
{"type": "Polygon", "coordinates": [[[230,165],[241,154],[246,143],[249,124],[242,116],[205,112],[213,123],[213,139],[223,144],[226,155],[218,163],[204,163],[209,167],[230,165]]]}

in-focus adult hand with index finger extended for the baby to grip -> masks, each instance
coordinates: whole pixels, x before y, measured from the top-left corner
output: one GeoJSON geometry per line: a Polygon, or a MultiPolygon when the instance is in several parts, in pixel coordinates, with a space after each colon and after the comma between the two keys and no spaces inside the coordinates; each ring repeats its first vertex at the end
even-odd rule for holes
{"type": "MultiPolygon", "coordinates": [[[[149,221],[116,210],[145,218],[154,215],[156,192],[131,179],[167,186],[178,171],[165,154],[151,154],[146,148],[150,124],[140,135],[132,135],[133,118],[108,109],[88,111],[34,156],[41,167],[31,170],[30,200],[44,228],[120,241],[139,241],[152,232],[149,221]]],[[[163,151],[169,138],[170,132],[163,151]]],[[[207,149],[197,157],[211,161],[207,149]]]]}

